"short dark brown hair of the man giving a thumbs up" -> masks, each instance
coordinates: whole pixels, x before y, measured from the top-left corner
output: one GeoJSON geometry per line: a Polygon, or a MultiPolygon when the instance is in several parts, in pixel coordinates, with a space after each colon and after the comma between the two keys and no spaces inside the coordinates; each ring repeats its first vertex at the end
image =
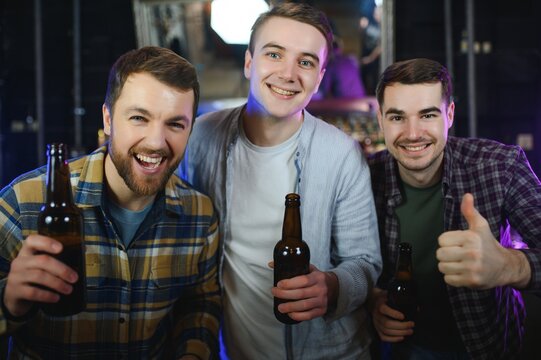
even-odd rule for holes
{"type": "Polygon", "coordinates": [[[400,61],[385,69],[376,87],[376,98],[380,109],[383,106],[385,88],[395,83],[405,85],[441,83],[442,100],[446,105],[452,101],[453,83],[449,71],[434,60],[419,58],[400,61]]]}

